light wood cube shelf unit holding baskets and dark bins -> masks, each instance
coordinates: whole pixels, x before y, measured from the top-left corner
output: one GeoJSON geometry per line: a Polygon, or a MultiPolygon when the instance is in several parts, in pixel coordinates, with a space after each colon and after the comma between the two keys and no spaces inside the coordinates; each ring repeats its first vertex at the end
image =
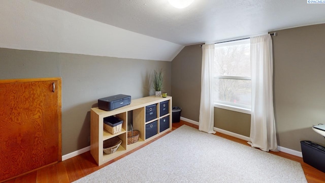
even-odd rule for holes
{"type": "MultiPolygon", "coordinates": [[[[163,110],[161,110],[163,111],[163,110]]],[[[161,120],[163,121],[163,120],[161,120]]],[[[92,157],[95,159],[97,164],[100,166],[116,157],[127,153],[128,151],[144,144],[152,140],[153,138],[164,134],[170,131],[172,128],[172,97],[167,96],[166,98],[149,96],[140,99],[135,99],[131,101],[130,105],[112,110],[112,111],[105,111],[101,110],[98,107],[91,108],[90,110],[90,153],[92,157]],[[167,103],[168,101],[168,103],[167,103]],[[160,115],[160,105],[162,103],[166,103],[169,105],[166,109],[168,112],[164,111],[164,115],[160,115]],[[146,122],[146,106],[156,105],[156,117],[152,120],[146,122]],[[127,121],[128,121],[128,113],[132,111],[132,124],[134,130],[140,131],[139,140],[133,144],[127,144],[127,121]],[[116,134],[110,134],[106,130],[104,130],[104,117],[108,116],[116,116],[123,120],[122,124],[122,131],[116,134]],[[169,118],[169,128],[166,128],[166,124],[164,124],[164,130],[159,129],[160,119],[169,118]],[[151,125],[151,123],[157,123],[156,135],[151,136],[150,138],[146,137],[146,125],[151,125]],[[113,154],[106,155],[103,152],[103,142],[107,139],[118,137],[122,140],[121,145],[117,149],[117,151],[113,154]]]]}

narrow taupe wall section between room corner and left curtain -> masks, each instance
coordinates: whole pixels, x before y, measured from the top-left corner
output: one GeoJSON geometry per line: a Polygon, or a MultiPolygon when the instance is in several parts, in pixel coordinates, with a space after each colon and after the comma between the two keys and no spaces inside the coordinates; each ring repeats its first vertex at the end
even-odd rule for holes
{"type": "Polygon", "coordinates": [[[172,61],[173,106],[182,108],[181,116],[199,121],[201,99],[200,45],[186,46],[172,61]]]}

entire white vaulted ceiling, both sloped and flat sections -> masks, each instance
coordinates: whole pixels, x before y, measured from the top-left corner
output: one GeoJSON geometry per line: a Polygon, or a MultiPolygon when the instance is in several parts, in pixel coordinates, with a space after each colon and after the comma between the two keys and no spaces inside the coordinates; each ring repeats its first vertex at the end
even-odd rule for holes
{"type": "Polygon", "coordinates": [[[0,47],[172,61],[186,45],[325,23],[312,0],[2,0],[0,47]]]}

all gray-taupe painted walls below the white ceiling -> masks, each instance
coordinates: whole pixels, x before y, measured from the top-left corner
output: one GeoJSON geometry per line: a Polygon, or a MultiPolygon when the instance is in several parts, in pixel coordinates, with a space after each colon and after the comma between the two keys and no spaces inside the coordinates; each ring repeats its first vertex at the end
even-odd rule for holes
{"type": "MultiPolygon", "coordinates": [[[[311,126],[325,118],[325,24],[277,32],[273,47],[278,143],[298,151],[301,140],[324,144],[311,126]]],[[[163,68],[165,91],[172,94],[173,106],[182,107],[181,116],[199,121],[201,62],[199,45],[186,46],[172,63],[0,48],[0,79],[62,77],[62,155],[66,155],[89,145],[89,111],[97,99],[153,95],[148,83],[154,69],[163,68]]],[[[249,121],[223,121],[236,112],[222,115],[215,116],[216,127],[249,134],[249,121]],[[235,130],[240,123],[247,124],[245,131],[235,130]]]]}

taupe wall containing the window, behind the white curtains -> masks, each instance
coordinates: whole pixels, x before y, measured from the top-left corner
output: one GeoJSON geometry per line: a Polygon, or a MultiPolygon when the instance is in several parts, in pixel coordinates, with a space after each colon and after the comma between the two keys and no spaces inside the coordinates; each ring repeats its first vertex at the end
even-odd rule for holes
{"type": "MultiPolygon", "coordinates": [[[[325,123],[324,32],[325,24],[319,24],[284,29],[272,37],[274,110],[278,145],[282,147],[301,151],[301,140],[325,144],[311,129],[325,123]]],[[[199,121],[201,59],[201,48],[193,45],[186,46],[172,62],[174,104],[182,107],[182,117],[194,121],[199,121]]],[[[247,115],[241,118],[238,112],[215,111],[215,127],[249,136],[247,115]],[[238,125],[243,129],[239,131],[238,125]]]]}

